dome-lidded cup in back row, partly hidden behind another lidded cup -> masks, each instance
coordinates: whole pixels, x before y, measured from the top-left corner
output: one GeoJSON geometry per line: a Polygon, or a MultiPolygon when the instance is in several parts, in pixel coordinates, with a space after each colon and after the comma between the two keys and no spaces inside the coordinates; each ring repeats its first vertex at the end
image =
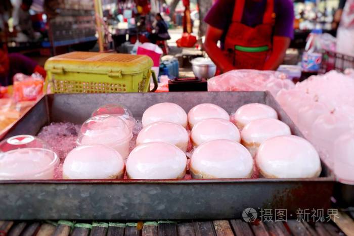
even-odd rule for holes
{"type": "Polygon", "coordinates": [[[135,125],[135,119],[130,110],[120,104],[107,104],[101,106],[91,114],[91,117],[98,115],[117,115],[124,120],[131,131],[135,125]]]}

